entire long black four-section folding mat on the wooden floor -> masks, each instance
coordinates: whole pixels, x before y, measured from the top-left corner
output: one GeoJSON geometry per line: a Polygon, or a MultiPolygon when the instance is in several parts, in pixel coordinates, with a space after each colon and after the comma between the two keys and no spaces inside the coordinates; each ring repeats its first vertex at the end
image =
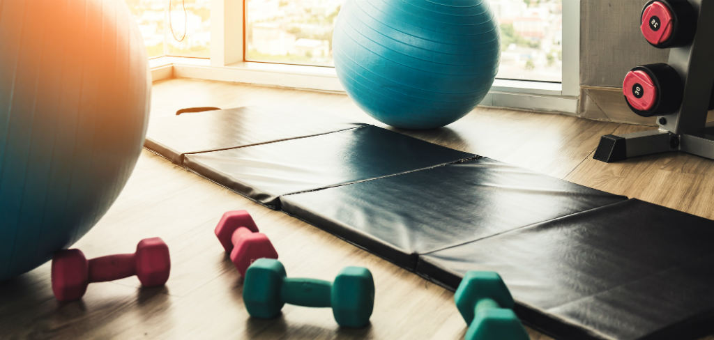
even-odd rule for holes
{"type": "Polygon", "coordinates": [[[191,170],[446,287],[467,270],[500,272],[523,321],[558,338],[714,329],[713,221],[373,126],[266,143],[306,123],[265,133],[273,120],[236,121],[218,118],[201,133],[187,123],[196,143],[185,145],[265,144],[154,150],[187,153],[191,170]]]}

